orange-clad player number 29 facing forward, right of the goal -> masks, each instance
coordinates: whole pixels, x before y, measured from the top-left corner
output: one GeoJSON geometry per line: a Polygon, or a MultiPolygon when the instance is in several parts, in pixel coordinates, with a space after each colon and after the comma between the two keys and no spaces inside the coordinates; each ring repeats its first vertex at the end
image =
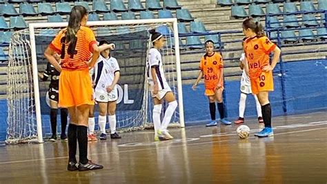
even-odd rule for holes
{"type": "Polygon", "coordinates": [[[201,58],[199,65],[199,76],[192,86],[195,90],[197,84],[204,77],[204,86],[206,87],[205,95],[209,99],[209,109],[211,122],[206,126],[216,126],[216,105],[220,114],[220,122],[225,125],[232,124],[225,118],[224,103],[223,103],[223,91],[224,91],[224,62],[221,55],[214,51],[215,45],[213,41],[208,40],[204,43],[206,47],[206,54],[201,58]]]}

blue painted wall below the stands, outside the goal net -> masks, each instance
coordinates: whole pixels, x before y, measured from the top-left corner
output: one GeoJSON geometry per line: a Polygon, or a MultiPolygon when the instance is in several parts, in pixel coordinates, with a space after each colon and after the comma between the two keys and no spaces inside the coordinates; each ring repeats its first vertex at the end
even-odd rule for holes
{"type": "MultiPolygon", "coordinates": [[[[327,60],[288,62],[284,63],[284,68],[286,70],[284,95],[287,114],[318,111],[327,108],[327,60]]],[[[278,66],[275,71],[279,71],[278,66]]],[[[283,110],[281,76],[278,74],[278,72],[274,74],[275,91],[270,93],[273,116],[285,114],[283,110]]],[[[238,116],[239,82],[226,82],[225,88],[227,113],[228,117],[233,120],[238,116]]],[[[196,91],[192,91],[191,85],[184,85],[183,92],[186,125],[206,123],[210,119],[210,115],[208,99],[204,95],[204,86],[199,85],[196,91]]],[[[6,139],[7,128],[6,100],[0,100],[0,109],[0,141],[3,141],[6,139]]],[[[252,95],[248,95],[246,117],[254,117],[256,113],[255,100],[252,95]]],[[[217,112],[218,117],[219,113],[217,112]]],[[[45,123],[43,132],[50,132],[48,115],[42,115],[42,120],[45,123]]]]}

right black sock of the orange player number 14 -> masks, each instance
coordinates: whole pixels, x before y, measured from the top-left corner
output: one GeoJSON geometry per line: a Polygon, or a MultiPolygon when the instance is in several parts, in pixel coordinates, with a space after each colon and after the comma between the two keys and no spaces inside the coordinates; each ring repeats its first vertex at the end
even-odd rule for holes
{"type": "Polygon", "coordinates": [[[79,162],[88,163],[88,127],[77,126],[77,139],[79,141],[79,162]]]}

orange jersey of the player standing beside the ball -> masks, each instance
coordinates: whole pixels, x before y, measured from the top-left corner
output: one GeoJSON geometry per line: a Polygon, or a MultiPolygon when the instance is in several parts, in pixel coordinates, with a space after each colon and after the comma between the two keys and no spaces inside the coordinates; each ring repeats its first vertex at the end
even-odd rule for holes
{"type": "Polygon", "coordinates": [[[269,65],[269,54],[275,47],[275,43],[272,43],[266,36],[255,36],[244,41],[250,78],[258,78],[262,73],[262,68],[269,65]]]}

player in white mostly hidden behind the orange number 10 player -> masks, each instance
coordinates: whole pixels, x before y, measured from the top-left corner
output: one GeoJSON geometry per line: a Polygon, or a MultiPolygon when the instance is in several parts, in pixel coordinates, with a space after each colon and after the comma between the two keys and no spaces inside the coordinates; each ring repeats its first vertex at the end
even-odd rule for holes
{"type": "MultiPolygon", "coordinates": [[[[244,65],[246,61],[245,54],[241,54],[241,58],[239,58],[239,67],[243,70],[242,77],[241,77],[241,97],[239,98],[239,118],[234,122],[235,124],[243,124],[244,123],[244,111],[246,108],[246,97],[248,94],[252,93],[251,91],[251,84],[250,84],[250,78],[248,77],[248,74],[246,73],[246,69],[244,69],[244,65]]],[[[258,115],[258,121],[259,126],[264,126],[264,120],[262,119],[262,113],[261,113],[261,105],[259,103],[259,100],[257,98],[257,95],[253,95],[255,97],[255,104],[257,106],[257,115],[258,115]]]]}

